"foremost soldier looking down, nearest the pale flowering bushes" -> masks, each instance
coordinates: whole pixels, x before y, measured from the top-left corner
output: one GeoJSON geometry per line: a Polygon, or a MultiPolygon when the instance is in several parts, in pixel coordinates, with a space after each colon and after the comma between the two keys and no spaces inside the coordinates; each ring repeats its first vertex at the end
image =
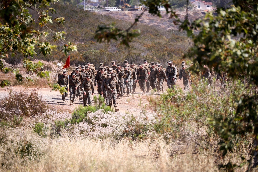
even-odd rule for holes
{"type": "Polygon", "coordinates": [[[113,104],[114,104],[114,107],[116,108],[117,107],[116,96],[119,96],[120,90],[119,90],[119,84],[115,78],[115,75],[112,74],[111,78],[109,78],[106,83],[107,83],[107,93],[108,93],[107,103],[111,107],[112,99],[113,99],[113,104]]]}

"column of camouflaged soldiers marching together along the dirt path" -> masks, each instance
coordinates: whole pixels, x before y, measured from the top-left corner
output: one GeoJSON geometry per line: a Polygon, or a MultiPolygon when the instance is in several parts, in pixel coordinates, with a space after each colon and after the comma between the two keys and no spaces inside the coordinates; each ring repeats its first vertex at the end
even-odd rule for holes
{"type": "MultiPolygon", "coordinates": [[[[76,98],[83,99],[84,106],[87,105],[87,101],[88,105],[91,105],[94,86],[98,87],[97,91],[104,97],[106,105],[111,106],[113,101],[115,108],[117,107],[116,98],[135,93],[137,82],[142,95],[150,92],[151,88],[154,93],[164,92],[164,81],[167,82],[168,88],[173,89],[176,81],[180,81],[182,78],[184,89],[189,88],[190,73],[186,70],[184,62],[181,64],[180,71],[171,60],[167,62],[167,68],[158,62],[149,64],[147,60],[138,65],[133,62],[128,64],[127,60],[124,61],[123,66],[120,63],[116,64],[115,61],[112,61],[111,64],[111,67],[108,67],[100,63],[98,70],[95,70],[95,66],[87,62],[86,65],[78,65],[68,76],[66,75],[67,70],[63,69],[57,83],[69,90],[70,105],[73,105],[76,98]]],[[[67,95],[67,92],[63,93],[63,102],[67,95]]]]}

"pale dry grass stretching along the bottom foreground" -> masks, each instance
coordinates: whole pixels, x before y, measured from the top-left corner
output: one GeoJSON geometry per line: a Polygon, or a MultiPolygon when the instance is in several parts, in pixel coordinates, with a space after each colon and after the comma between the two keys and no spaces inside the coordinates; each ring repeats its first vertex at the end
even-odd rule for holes
{"type": "Polygon", "coordinates": [[[0,156],[5,164],[0,171],[218,171],[214,159],[206,155],[186,151],[189,153],[172,158],[167,151],[168,146],[160,139],[116,143],[68,137],[44,139],[20,128],[3,133],[10,135],[6,138],[6,147],[0,147],[0,152],[9,154],[0,156]],[[12,150],[25,142],[35,142],[33,160],[22,159],[12,150]],[[11,151],[7,149],[9,146],[12,146],[11,151]]]}

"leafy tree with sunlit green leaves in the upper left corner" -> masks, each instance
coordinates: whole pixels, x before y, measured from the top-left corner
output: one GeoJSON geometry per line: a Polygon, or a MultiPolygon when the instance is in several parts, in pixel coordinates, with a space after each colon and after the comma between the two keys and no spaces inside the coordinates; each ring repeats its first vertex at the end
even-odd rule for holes
{"type": "MultiPolygon", "coordinates": [[[[55,18],[49,15],[50,13],[55,13],[55,9],[50,7],[51,3],[56,3],[57,0],[1,0],[0,8],[0,71],[7,73],[13,71],[15,73],[16,79],[22,81],[23,79],[31,80],[30,78],[24,78],[18,70],[5,67],[2,58],[5,58],[7,54],[12,53],[15,55],[16,52],[20,52],[24,56],[24,67],[28,71],[36,73],[40,77],[49,77],[49,72],[40,71],[43,68],[43,63],[38,62],[33,64],[30,58],[36,55],[36,51],[43,55],[51,54],[51,52],[56,48],[55,45],[51,45],[49,42],[42,42],[41,37],[47,36],[48,32],[39,31],[33,29],[35,21],[39,26],[44,26],[48,28],[48,24],[52,24],[53,20],[57,21],[59,24],[64,24],[65,18],[55,18]],[[31,12],[36,12],[38,18],[32,17],[31,12]]],[[[49,29],[50,32],[54,32],[49,29]]],[[[61,39],[65,39],[65,32],[58,31],[53,34],[53,41],[62,42],[61,39]]],[[[68,42],[63,43],[62,51],[68,54],[70,51],[76,51],[76,46],[68,42]]],[[[0,86],[6,86],[8,82],[1,80],[0,86]]],[[[64,91],[58,85],[53,86],[55,89],[60,89],[64,91]]]]}

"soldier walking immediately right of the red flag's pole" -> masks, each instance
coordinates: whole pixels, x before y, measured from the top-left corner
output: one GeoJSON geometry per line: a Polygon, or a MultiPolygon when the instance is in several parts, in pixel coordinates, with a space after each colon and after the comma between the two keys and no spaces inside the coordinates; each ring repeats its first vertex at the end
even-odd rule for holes
{"type": "MultiPolygon", "coordinates": [[[[74,105],[74,98],[77,91],[78,86],[80,86],[79,78],[77,78],[76,73],[72,72],[71,75],[68,77],[69,81],[69,92],[70,92],[70,105],[74,105]]],[[[67,83],[68,84],[68,83],[67,83]]]]}

